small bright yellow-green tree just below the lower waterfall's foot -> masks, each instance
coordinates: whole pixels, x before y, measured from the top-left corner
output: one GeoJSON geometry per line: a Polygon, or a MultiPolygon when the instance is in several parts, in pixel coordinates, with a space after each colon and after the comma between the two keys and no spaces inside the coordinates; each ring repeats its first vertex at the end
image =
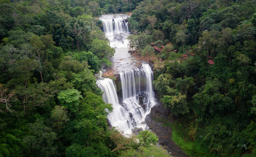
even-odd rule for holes
{"type": "Polygon", "coordinates": [[[155,133],[148,130],[140,131],[138,134],[138,139],[139,143],[145,147],[155,145],[159,140],[155,133]]]}

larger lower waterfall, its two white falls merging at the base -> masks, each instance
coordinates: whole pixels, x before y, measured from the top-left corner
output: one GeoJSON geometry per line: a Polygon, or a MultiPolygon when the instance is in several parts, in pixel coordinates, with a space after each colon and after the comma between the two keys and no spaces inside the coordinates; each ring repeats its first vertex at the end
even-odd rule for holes
{"type": "Polygon", "coordinates": [[[98,80],[97,84],[103,91],[102,98],[111,103],[113,111],[109,115],[112,126],[125,133],[132,133],[135,127],[141,127],[150,109],[154,106],[153,72],[150,65],[142,63],[139,68],[119,74],[122,86],[122,102],[118,102],[115,82],[109,78],[98,80]]]}

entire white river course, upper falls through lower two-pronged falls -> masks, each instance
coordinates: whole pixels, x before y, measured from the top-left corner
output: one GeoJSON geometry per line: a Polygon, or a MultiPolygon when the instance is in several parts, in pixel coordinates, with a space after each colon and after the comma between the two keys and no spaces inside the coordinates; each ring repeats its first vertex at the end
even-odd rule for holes
{"type": "Polygon", "coordinates": [[[109,78],[99,78],[97,85],[103,91],[103,100],[113,106],[108,116],[110,125],[132,134],[147,128],[145,117],[156,102],[150,65],[145,62],[138,65],[138,60],[128,52],[128,17],[126,14],[108,14],[99,18],[110,46],[116,50],[112,69],[118,74],[116,82],[119,84],[109,78]],[[117,90],[117,86],[121,89],[117,90]]]}

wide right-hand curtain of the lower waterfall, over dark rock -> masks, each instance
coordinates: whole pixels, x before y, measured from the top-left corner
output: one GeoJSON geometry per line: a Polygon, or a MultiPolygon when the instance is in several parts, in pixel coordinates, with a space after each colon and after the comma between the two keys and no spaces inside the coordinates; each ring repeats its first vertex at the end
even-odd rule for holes
{"type": "Polygon", "coordinates": [[[130,128],[138,127],[155,105],[153,72],[150,65],[142,63],[139,68],[121,72],[119,77],[122,85],[122,106],[129,113],[129,117],[126,116],[127,121],[130,128]]]}

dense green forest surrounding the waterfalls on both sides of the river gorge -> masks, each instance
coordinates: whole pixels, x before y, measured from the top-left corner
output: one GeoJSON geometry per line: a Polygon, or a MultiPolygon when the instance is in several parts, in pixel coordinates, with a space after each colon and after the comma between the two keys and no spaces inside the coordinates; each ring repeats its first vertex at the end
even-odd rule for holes
{"type": "Polygon", "coordinates": [[[0,0],[0,156],[169,156],[153,132],[108,125],[95,74],[115,49],[98,17],[120,12],[179,136],[256,156],[254,0],[0,0]]]}

